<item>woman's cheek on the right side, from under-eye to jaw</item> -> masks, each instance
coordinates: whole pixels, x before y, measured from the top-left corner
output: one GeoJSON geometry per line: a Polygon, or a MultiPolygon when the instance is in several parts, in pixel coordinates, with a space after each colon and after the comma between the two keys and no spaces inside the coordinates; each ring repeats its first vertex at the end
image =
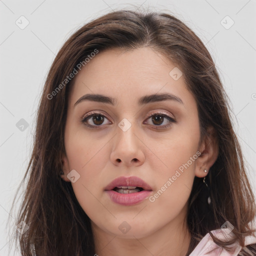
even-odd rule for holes
{"type": "Polygon", "coordinates": [[[192,127],[181,125],[162,144],[155,147],[163,164],[157,169],[157,187],[149,201],[156,208],[159,207],[159,210],[165,208],[159,213],[163,219],[179,214],[190,195],[199,155],[199,136],[198,123],[192,127]]]}

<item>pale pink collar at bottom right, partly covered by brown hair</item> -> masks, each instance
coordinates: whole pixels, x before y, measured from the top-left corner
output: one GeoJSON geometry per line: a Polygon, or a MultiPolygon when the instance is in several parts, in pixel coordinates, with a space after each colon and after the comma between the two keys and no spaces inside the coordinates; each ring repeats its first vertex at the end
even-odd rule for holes
{"type": "MultiPolygon", "coordinates": [[[[228,239],[232,237],[232,231],[228,228],[220,228],[211,231],[217,238],[228,239]]],[[[256,234],[254,234],[256,236],[256,234]]],[[[256,243],[255,236],[246,236],[245,245],[256,243]]],[[[197,244],[189,256],[237,256],[241,246],[236,242],[230,245],[231,251],[223,249],[213,242],[209,233],[207,233],[197,244]]]]}

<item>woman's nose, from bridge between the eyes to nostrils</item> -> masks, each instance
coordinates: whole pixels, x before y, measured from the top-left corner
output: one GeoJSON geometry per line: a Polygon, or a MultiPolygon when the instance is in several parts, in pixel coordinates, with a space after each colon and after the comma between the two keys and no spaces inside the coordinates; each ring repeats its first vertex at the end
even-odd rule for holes
{"type": "Polygon", "coordinates": [[[110,160],[114,165],[125,165],[126,167],[143,164],[145,160],[142,151],[144,144],[139,137],[139,132],[135,130],[135,124],[127,130],[120,127],[121,125],[117,127],[117,134],[114,136],[110,160]]]}

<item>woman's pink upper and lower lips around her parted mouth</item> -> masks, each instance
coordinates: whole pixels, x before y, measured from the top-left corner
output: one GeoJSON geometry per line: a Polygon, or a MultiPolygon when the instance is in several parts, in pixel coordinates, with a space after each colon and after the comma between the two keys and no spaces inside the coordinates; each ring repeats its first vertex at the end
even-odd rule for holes
{"type": "Polygon", "coordinates": [[[118,177],[110,182],[105,191],[110,199],[118,204],[129,206],[143,201],[152,191],[152,188],[141,178],[136,176],[131,177],[118,177]],[[139,186],[144,190],[134,193],[122,194],[112,190],[116,186],[139,186]]]}

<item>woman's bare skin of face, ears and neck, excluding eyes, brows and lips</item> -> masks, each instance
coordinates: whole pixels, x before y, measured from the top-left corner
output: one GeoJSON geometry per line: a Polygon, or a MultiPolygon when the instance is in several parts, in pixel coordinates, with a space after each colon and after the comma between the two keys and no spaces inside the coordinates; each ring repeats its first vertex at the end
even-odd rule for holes
{"type": "Polygon", "coordinates": [[[214,163],[218,148],[212,127],[199,143],[196,101],[183,76],[174,80],[169,75],[174,67],[149,47],[111,49],[96,54],[75,76],[68,101],[62,178],[70,182],[66,175],[72,169],[80,175],[72,187],[91,219],[99,256],[184,256],[188,249],[191,236],[185,219],[193,178],[207,175],[203,170],[214,163]],[[137,104],[141,96],[163,92],[176,95],[183,104],[174,100],[137,104]],[[86,93],[115,97],[117,104],[82,101],[74,106],[86,93]],[[104,115],[101,126],[92,117],[87,120],[95,129],[80,120],[92,110],[104,115]],[[160,122],[150,116],[159,111],[176,122],[164,118],[157,125],[160,122]],[[123,118],[131,124],[125,132],[118,126],[123,118]],[[156,129],[165,124],[170,126],[156,129]],[[104,191],[116,177],[138,176],[152,187],[153,195],[198,150],[201,155],[154,202],[145,199],[132,206],[119,205],[104,191]],[[130,226],[125,234],[118,228],[123,221],[130,226]]]}

